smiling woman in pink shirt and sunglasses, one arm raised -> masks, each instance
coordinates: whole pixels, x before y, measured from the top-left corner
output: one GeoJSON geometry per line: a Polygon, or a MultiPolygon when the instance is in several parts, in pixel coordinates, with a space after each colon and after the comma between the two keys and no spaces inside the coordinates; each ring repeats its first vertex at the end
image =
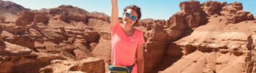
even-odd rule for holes
{"type": "Polygon", "coordinates": [[[140,7],[135,5],[125,7],[123,23],[120,23],[118,1],[112,0],[111,3],[111,65],[126,66],[132,73],[143,73],[143,44],[145,42],[142,31],[134,28],[141,17],[140,7]]]}

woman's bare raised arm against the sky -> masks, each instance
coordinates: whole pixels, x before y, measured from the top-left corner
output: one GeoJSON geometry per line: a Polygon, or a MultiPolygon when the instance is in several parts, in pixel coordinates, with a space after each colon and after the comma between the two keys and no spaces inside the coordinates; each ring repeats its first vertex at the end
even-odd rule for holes
{"type": "Polygon", "coordinates": [[[118,4],[117,0],[111,0],[112,12],[111,12],[111,29],[118,22],[118,4]]]}

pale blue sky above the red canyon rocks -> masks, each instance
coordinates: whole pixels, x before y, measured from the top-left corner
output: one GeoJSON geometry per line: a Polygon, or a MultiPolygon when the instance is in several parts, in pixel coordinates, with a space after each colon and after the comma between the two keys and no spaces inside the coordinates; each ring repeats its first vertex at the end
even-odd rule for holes
{"type": "MultiPolygon", "coordinates": [[[[4,0],[13,1],[23,7],[29,9],[42,9],[58,7],[61,4],[69,4],[75,7],[86,9],[89,12],[104,12],[110,15],[111,12],[111,0],[4,0]]],[[[180,11],[178,4],[181,1],[189,0],[118,0],[119,16],[123,12],[124,7],[131,4],[135,4],[142,10],[142,19],[164,19],[167,20],[180,11]]],[[[198,0],[203,3],[208,0],[198,0]]],[[[227,3],[233,3],[238,1],[243,3],[244,10],[252,12],[256,16],[256,0],[211,0],[211,1],[227,1],[227,3]]]]}

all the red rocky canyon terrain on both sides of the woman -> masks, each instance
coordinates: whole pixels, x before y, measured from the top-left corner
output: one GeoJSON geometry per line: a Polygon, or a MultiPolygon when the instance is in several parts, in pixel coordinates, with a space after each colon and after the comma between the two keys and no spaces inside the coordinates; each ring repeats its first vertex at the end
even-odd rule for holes
{"type": "MultiPolygon", "coordinates": [[[[178,7],[178,6],[177,6],[178,7]]],[[[256,72],[256,20],[241,3],[184,1],[169,20],[140,20],[146,73],[256,72]]],[[[110,17],[70,5],[0,0],[0,72],[104,73],[110,17]]]]}

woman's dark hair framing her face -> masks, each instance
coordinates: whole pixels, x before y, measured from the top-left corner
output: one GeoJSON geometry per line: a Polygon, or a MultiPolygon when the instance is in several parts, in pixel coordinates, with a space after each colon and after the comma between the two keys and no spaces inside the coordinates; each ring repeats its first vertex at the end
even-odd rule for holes
{"type": "MultiPolygon", "coordinates": [[[[132,10],[135,10],[135,12],[137,13],[138,15],[138,20],[140,20],[141,18],[141,12],[140,12],[140,7],[137,7],[136,5],[129,5],[128,7],[125,7],[124,8],[124,12],[127,12],[127,9],[132,9],[132,10]]],[[[135,24],[138,23],[138,20],[135,22],[135,24]]],[[[137,25],[136,25],[137,26],[137,25]]]]}

